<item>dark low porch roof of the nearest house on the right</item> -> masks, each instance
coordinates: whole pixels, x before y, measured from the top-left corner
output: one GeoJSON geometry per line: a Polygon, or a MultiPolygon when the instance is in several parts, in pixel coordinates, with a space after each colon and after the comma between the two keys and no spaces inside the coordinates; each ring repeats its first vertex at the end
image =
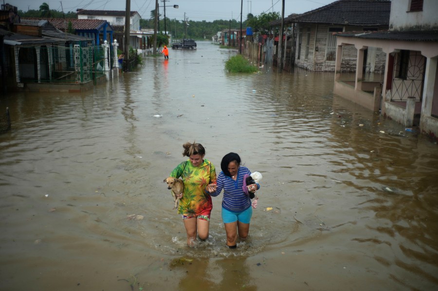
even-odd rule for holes
{"type": "Polygon", "coordinates": [[[349,32],[338,33],[344,37],[365,39],[403,40],[403,41],[438,41],[438,31],[378,31],[378,32],[349,32]]]}

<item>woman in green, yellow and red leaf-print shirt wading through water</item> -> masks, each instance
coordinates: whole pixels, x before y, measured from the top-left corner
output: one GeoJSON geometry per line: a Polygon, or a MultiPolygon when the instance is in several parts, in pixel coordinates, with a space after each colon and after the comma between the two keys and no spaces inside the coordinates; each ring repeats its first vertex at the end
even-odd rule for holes
{"type": "Polygon", "coordinates": [[[187,245],[193,247],[196,235],[201,240],[208,239],[213,204],[206,187],[216,184],[216,169],[209,160],[204,159],[205,149],[200,143],[186,142],[183,148],[183,156],[189,159],[179,164],[170,176],[181,177],[184,182],[178,213],[183,215],[187,245]]]}

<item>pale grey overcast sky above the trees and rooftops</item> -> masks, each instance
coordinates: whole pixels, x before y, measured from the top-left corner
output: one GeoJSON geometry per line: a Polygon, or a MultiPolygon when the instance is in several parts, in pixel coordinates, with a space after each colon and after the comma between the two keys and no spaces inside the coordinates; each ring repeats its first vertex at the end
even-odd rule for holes
{"type": "MultiPolygon", "coordinates": [[[[155,0],[130,0],[131,11],[137,11],[142,18],[150,18],[150,11],[155,9],[155,0]]],[[[304,13],[335,0],[285,0],[285,17],[292,13],[304,13]]],[[[90,10],[125,10],[126,0],[1,0],[1,4],[9,3],[17,6],[19,10],[39,10],[43,2],[49,4],[50,9],[61,11],[61,3],[64,12],[76,11],[76,9],[90,10]]],[[[278,12],[281,15],[282,0],[166,0],[166,17],[184,19],[185,16],[193,21],[213,21],[217,19],[236,19],[240,21],[240,6],[242,5],[242,20],[248,13],[254,16],[262,12],[278,12]],[[242,4],[241,4],[242,3],[242,4]],[[178,5],[179,8],[173,8],[178,5]]],[[[159,6],[164,6],[163,0],[159,0],[159,6]]],[[[164,14],[163,7],[159,8],[160,14],[164,14]]]]}

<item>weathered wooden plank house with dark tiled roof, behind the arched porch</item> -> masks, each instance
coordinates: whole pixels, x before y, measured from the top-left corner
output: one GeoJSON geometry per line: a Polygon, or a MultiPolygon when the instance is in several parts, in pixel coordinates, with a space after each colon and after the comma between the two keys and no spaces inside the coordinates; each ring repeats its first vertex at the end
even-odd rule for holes
{"type": "MultiPolygon", "coordinates": [[[[382,31],[389,26],[389,0],[338,0],[303,14],[284,18],[285,48],[283,68],[293,66],[311,71],[334,71],[336,36],[333,33],[350,31],[382,31]]],[[[279,26],[280,20],[271,22],[279,26]]],[[[278,50],[274,50],[275,55],[278,50]]],[[[355,52],[347,48],[344,57],[354,59],[355,52]]],[[[274,66],[277,57],[274,55],[274,66]]],[[[381,71],[384,53],[381,50],[367,51],[364,69],[381,71]]],[[[355,71],[355,63],[343,64],[345,70],[355,71]]]]}

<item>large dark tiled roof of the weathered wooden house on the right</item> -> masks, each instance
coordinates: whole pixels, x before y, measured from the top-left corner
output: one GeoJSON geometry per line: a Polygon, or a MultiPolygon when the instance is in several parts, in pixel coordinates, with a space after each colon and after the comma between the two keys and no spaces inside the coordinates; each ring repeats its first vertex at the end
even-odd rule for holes
{"type": "MultiPolygon", "coordinates": [[[[303,14],[292,14],[284,21],[285,23],[327,23],[368,27],[389,26],[390,12],[390,0],[338,0],[303,14]]],[[[279,25],[281,19],[271,24],[279,25]]]]}

